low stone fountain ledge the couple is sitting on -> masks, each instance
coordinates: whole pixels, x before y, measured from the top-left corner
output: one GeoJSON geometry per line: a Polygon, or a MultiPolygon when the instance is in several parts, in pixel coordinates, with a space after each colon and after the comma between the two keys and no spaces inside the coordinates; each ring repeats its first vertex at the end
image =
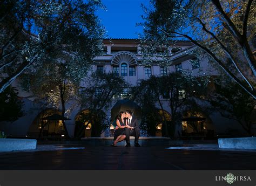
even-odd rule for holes
{"type": "MultiPolygon", "coordinates": [[[[84,137],[81,139],[83,144],[89,146],[110,146],[113,143],[113,137],[84,137]]],[[[131,146],[134,146],[134,137],[130,137],[131,146]]],[[[141,146],[159,146],[170,143],[169,137],[139,137],[139,144],[141,146]]],[[[126,142],[121,141],[117,146],[125,146],[126,142]]]]}

